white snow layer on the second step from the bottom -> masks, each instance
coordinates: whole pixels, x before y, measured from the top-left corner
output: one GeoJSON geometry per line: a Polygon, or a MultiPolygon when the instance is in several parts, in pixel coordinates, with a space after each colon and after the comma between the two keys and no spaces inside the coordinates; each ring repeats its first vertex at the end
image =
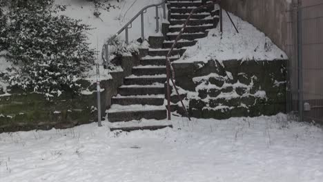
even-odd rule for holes
{"type": "Polygon", "coordinates": [[[108,113],[112,112],[127,112],[127,111],[150,111],[150,110],[166,110],[164,105],[119,105],[112,104],[111,108],[107,111],[108,113]]]}

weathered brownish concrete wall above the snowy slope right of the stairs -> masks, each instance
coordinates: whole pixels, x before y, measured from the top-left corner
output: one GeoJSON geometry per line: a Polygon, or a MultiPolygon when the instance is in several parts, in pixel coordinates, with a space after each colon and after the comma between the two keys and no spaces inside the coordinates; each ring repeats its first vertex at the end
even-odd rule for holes
{"type": "Polygon", "coordinates": [[[287,0],[224,0],[222,3],[224,9],[253,24],[287,52],[286,10],[291,7],[290,2],[287,0]]]}

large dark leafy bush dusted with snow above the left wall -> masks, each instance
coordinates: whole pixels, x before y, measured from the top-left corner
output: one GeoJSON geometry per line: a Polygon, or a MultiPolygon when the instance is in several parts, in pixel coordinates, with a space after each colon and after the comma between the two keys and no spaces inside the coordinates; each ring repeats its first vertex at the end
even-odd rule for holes
{"type": "MultiPolygon", "coordinates": [[[[95,51],[86,43],[85,32],[90,28],[79,20],[54,16],[53,10],[29,1],[23,1],[27,8],[13,4],[8,13],[4,41],[10,60],[20,69],[12,68],[15,74],[7,74],[7,81],[37,92],[78,92],[77,79],[94,61],[95,51]]],[[[52,1],[46,2],[50,5],[52,1]]]]}

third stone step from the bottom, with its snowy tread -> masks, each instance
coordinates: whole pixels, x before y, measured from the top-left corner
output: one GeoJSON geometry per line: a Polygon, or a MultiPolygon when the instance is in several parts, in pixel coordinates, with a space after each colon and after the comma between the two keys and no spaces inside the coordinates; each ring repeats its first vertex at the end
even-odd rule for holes
{"type": "Polygon", "coordinates": [[[121,96],[118,95],[117,97],[112,97],[113,104],[119,105],[163,105],[165,95],[142,95],[142,96],[121,96]]]}

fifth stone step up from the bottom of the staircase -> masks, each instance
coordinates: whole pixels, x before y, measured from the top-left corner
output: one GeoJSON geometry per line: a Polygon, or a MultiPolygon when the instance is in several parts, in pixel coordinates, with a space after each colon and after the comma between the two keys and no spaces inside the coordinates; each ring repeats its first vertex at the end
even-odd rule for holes
{"type": "Polygon", "coordinates": [[[152,85],[153,83],[165,83],[166,74],[157,74],[157,75],[143,75],[139,77],[126,77],[124,79],[125,85],[152,85]]]}

